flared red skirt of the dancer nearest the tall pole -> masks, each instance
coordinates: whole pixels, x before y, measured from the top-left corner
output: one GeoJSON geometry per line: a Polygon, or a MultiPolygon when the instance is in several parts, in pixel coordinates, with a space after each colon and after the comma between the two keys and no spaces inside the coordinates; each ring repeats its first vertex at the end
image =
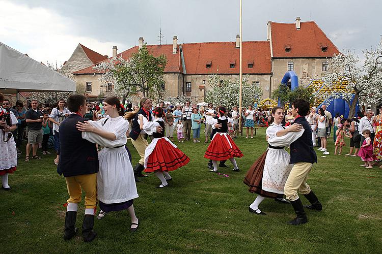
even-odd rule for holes
{"type": "Polygon", "coordinates": [[[204,154],[205,158],[213,161],[224,161],[233,157],[239,158],[242,156],[243,154],[235,142],[233,142],[232,138],[225,133],[223,135],[221,133],[216,133],[204,154]]]}

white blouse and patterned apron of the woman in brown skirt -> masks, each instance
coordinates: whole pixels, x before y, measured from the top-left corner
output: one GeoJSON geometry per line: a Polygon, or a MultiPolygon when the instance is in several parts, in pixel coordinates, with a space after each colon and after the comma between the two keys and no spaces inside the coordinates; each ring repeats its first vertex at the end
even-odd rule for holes
{"type": "MultiPolygon", "coordinates": [[[[276,137],[278,131],[284,130],[282,125],[272,123],[266,129],[266,136],[269,137],[268,143],[272,146],[271,138],[276,137]]],[[[280,137],[281,138],[281,137],[280,137]]],[[[288,179],[289,173],[293,168],[293,164],[289,164],[290,155],[283,149],[269,148],[264,164],[262,189],[267,192],[283,194],[284,185],[288,179]]]]}

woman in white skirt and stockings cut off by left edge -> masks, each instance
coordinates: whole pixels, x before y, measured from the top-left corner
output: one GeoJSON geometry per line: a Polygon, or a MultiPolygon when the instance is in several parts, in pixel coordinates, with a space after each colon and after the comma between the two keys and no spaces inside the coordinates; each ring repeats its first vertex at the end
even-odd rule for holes
{"type": "Polygon", "coordinates": [[[12,111],[7,111],[1,106],[3,101],[4,94],[0,92],[0,176],[2,188],[10,190],[8,174],[16,171],[17,166],[16,143],[12,132],[16,130],[18,121],[12,111]]]}

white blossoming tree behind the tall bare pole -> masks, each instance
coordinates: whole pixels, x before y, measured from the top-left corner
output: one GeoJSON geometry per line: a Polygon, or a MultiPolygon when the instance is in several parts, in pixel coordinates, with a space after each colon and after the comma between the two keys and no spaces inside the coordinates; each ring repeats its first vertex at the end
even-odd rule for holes
{"type": "MultiPolygon", "coordinates": [[[[254,102],[260,101],[263,90],[260,86],[249,84],[248,76],[244,76],[242,80],[242,105],[253,105],[254,102]]],[[[212,74],[209,76],[208,83],[212,86],[212,90],[206,92],[205,101],[213,105],[225,105],[232,108],[239,104],[239,80],[222,80],[219,75],[212,74]]]]}

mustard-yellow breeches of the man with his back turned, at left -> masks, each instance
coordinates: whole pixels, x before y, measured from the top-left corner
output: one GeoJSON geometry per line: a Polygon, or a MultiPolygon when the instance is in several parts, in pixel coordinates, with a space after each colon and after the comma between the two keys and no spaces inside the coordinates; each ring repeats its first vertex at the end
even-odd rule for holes
{"type": "Polygon", "coordinates": [[[76,175],[65,177],[66,187],[70,198],[68,203],[81,202],[82,189],[85,190],[85,208],[93,209],[96,207],[97,200],[97,173],[89,175],[76,175]]]}

